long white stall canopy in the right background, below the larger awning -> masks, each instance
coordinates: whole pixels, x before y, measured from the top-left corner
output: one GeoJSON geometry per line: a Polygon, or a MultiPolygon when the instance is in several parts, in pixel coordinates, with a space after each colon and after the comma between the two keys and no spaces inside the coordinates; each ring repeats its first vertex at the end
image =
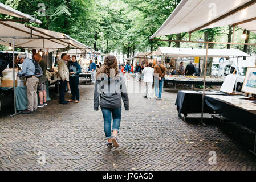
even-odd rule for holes
{"type": "MultiPolygon", "coordinates": [[[[205,57],[206,49],[159,47],[156,55],[165,55],[170,57],[205,57]]],[[[249,56],[239,49],[208,49],[208,57],[242,57],[249,56]]]]}

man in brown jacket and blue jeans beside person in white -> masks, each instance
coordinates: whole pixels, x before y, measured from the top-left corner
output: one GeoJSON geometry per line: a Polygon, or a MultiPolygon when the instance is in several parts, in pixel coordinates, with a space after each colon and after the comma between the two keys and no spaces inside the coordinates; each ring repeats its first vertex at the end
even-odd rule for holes
{"type": "Polygon", "coordinates": [[[165,76],[165,66],[161,64],[161,60],[157,61],[154,67],[155,71],[155,94],[156,99],[162,99],[162,88],[164,87],[164,76],[165,76]]]}

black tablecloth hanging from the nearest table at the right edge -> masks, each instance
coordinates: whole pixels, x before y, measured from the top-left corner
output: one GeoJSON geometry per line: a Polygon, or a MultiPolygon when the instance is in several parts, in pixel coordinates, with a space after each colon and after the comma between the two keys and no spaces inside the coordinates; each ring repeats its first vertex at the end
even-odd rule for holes
{"type": "MultiPolygon", "coordinates": [[[[205,96],[207,106],[221,116],[256,131],[256,111],[250,111],[235,106],[229,102],[205,96]]],[[[256,102],[256,101],[255,101],[256,102]]]]}

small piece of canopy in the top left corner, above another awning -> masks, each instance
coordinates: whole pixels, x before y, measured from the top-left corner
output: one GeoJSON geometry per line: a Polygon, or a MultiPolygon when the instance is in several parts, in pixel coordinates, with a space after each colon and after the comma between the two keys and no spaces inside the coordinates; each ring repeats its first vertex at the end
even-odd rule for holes
{"type": "Polygon", "coordinates": [[[22,13],[21,11],[15,10],[9,6],[6,6],[3,3],[0,3],[0,13],[10,15],[10,16],[15,16],[17,18],[29,19],[32,22],[36,22],[38,24],[42,23],[40,20],[35,19],[34,17],[27,15],[25,13],[22,13]]]}

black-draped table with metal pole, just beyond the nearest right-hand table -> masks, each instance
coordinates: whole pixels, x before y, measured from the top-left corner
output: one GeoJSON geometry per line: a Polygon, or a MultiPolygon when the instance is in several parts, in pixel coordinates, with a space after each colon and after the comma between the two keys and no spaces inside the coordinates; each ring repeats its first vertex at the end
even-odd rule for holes
{"type": "MultiPolygon", "coordinates": [[[[199,91],[179,91],[175,105],[177,106],[178,116],[184,114],[185,117],[188,114],[199,114],[202,113],[202,92],[199,91]]],[[[207,95],[225,95],[221,92],[209,92],[206,91],[207,95]]],[[[204,113],[211,113],[212,110],[205,104],[204,113]]]]}

